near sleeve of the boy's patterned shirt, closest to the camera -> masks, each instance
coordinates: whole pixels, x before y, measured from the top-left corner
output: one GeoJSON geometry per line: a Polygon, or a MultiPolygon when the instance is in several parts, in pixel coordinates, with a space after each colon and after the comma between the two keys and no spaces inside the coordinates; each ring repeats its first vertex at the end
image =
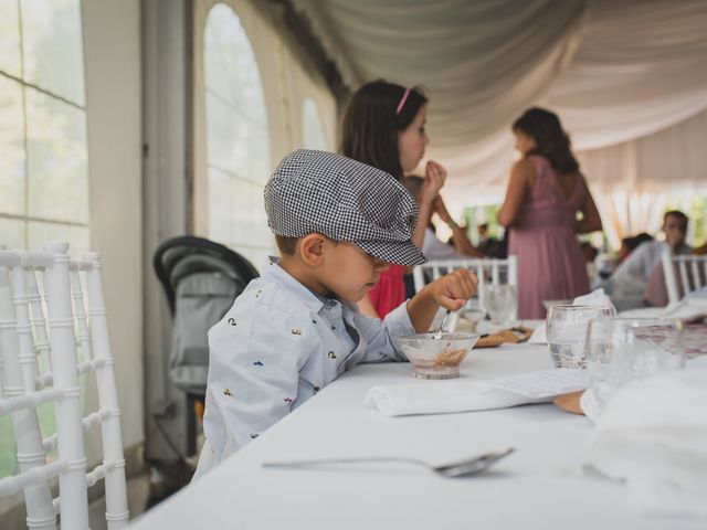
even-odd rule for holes
{"type": "Polygon", "coordinates": [[[296,406],[309,335],[265,305],[232,309],[211,328],[204,432],[219,460],[296,406]]]}

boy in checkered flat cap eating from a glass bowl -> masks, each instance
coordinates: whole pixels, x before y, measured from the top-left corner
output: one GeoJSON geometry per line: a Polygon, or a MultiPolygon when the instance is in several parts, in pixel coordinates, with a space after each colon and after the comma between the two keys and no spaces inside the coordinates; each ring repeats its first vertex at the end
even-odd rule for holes
{"type": "Polygon", "coordinates": [[[389,263],[425,258],[412,243],[418,206],[390,174],[331,152],[297,150],[265,186],[281,257],[209,331],[202,475],[359,362],[404,361],[391,337],[424,332],[476,278],[456,271],[383,321],[356,301],[389,263]]]}

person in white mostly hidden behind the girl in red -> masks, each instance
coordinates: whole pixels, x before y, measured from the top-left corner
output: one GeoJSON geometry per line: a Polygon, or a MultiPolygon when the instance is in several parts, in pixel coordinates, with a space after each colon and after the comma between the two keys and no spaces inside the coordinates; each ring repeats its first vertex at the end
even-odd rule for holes
{"type": "MultiPolygon", "coordinates": [[[[424,179],[416,174],[405,177],[403,184],[410,192],[410,194],[420,203],[420,194],[424,187],[424,179]]],[[[422,253],[430,261],[434,259],[467,259],[469,257],[486,257],[479,252],[469,241],[466,234],[466,229],[460,226],[454,220],[444,204],[444,200],[441,195],[434,200],[434,213],[440,216],[440,220],[452,230],[452,244],[443,243],[436,236],[434,225],[431,220],[428,220],[426,229],[424,231],[424,237],[422,241],[422,253]]]]}

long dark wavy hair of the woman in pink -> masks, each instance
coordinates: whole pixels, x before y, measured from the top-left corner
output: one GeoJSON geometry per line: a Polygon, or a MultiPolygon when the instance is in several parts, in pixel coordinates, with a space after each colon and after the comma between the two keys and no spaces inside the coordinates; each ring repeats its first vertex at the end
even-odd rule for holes
{"type": "Polygon", "coordinates": [[[529,108],[516,119],[513,130],[532,138],[537,147],[528,155],[547,158],[556,171],[573,173],[579,169],[579,163],[572,155],[570,137],[562,129],[557,114],[545,108],[529,108]]]}

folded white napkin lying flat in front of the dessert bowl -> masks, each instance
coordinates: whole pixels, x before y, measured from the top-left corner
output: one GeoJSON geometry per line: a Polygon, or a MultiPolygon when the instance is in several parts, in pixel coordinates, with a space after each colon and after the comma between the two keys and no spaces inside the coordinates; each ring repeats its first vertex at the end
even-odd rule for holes
{"type": "Polygon", "coordinates": [[[483,381],[447,380],[373,386],[363,405],[387,416],[444,414],[545,403],[588,386],[585,370],[541,370],[483,381]]]}

